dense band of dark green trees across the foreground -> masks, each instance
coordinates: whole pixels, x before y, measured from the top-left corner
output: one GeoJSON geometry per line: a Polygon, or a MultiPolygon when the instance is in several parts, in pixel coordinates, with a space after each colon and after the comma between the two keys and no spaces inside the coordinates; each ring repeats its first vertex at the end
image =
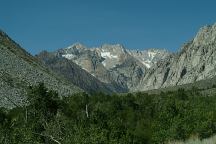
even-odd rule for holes
{"type": "Polygon", "coordinates": [[[195,88],[60,97],[40,84],[28,101],[0,109],[1,144],[161,144],[216,133],[216,96],[195,88]]]}

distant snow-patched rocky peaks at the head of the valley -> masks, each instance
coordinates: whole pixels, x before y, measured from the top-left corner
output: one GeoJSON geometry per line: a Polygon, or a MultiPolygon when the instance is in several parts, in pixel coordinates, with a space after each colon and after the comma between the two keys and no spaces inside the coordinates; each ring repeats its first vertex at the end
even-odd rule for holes
{"type": "Polygon", "coordinates": [[[133,90],[154,63],[169,55],[165,50],[130,51],[120,44],[87,48],[80,43],[50,54],[76,63],[101,82],[112,85],[115,92],[133,90]]]}

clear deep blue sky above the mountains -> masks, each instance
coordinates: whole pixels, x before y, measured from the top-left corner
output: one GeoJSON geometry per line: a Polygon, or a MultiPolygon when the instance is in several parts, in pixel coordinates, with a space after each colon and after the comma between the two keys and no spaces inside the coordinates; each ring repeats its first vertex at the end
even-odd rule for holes
{"type": "Polygon", "coordinates": [[[75,42],[176,51],[215,22],[215,0],[0,0],[0,29],[32,54],[75,42]]]}

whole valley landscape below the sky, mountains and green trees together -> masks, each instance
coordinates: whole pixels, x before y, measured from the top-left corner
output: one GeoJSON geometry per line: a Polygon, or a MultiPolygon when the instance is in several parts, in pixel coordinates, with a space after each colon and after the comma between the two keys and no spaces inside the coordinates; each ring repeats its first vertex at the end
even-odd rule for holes
{"type": "Polygon", "coordinates": [[[0,143],[208,140],[216,134],[215,58],[216,24],[177,53],[76,43],[32,56],[1,31],[0,143]]]}

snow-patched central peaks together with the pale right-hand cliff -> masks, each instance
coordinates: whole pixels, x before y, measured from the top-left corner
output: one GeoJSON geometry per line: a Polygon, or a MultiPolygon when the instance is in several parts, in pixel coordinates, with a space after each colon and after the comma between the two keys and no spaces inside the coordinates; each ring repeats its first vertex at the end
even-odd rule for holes
{"type": "Polygon", "coordinates": [[[216,24],[204,26],[180,52],[130,50],[121,44],[87,48],[74,44],[57,51],[104,83],[149,90],[192,83],[216,75],[216,24]]]}

